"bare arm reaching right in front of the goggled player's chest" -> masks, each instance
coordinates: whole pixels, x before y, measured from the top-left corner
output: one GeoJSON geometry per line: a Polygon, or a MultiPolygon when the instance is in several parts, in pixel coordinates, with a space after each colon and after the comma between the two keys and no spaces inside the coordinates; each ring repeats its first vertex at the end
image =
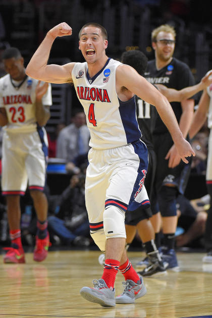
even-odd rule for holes
{"type": "Polygon", "coordinates": [[[160,92],[167,97],[169,102],[171,101],[182,101],[190,98],[201,90],[204,90],[207,86],[212,84],[212,71],[209,71],[202,77],[201,81],[193,86],[185,87],[181,90],[176,90],[174,88],[168,88],[162,84],[155,84],[155,86],[160,90],[160,92]]]}

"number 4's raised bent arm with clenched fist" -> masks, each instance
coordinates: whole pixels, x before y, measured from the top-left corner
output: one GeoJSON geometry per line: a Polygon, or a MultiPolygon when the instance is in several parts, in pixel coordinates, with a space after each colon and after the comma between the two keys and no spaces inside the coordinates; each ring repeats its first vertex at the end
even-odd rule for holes
{"type": "Polygon", "coordinates": [[[26,68],[26,74],[32,78],[49,83],[72,82],[71,73],[75,63],[65,65],[47,65],[49,53],[53,42],[57,36],[72,34],[72,28],[65,22],[50,29],[44,40],[41,42],[26,68]]]}

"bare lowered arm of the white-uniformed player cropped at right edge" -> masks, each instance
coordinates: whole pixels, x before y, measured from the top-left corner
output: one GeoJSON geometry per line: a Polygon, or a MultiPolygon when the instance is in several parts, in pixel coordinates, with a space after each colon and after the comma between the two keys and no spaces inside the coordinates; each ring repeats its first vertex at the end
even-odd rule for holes
{"type": "Polygon", "coordinates": [[[199,106],[196,112],[194,113],[193,120],[191,123],[191,127],[189,130],[189,136],[193,138],[196,133],[198,133],[199,129],[202,127],[204,124],[206,118],[207,118],[207,113],[208,113],[208,108],[209,108],[209,101],[210,97],[207,94],[206,89],[203,91],[202,96],[199,100],[199,106]]]}

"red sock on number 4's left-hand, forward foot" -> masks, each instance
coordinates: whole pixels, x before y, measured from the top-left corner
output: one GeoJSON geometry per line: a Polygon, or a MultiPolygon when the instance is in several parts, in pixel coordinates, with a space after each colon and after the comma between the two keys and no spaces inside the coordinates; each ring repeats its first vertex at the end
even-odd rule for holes
{"type": "Polygon", "coordinates": [[[114,288],[114,283],[116,279],[116,274],[118,273],[120,261],[116,259],[105,259],[104,262],[104,271],[102,275],[102,279],[108,286],[108,288],[114,288]]]}

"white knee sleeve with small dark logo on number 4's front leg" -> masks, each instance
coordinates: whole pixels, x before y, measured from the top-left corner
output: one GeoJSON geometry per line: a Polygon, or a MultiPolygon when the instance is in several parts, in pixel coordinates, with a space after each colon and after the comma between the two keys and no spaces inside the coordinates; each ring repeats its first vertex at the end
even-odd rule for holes
{"type": "Polygon", "coordinates": [[[106,238],[126,238],[125,213],[117,206],[111,205],[104,210],[103,224],[106,238]]]}

